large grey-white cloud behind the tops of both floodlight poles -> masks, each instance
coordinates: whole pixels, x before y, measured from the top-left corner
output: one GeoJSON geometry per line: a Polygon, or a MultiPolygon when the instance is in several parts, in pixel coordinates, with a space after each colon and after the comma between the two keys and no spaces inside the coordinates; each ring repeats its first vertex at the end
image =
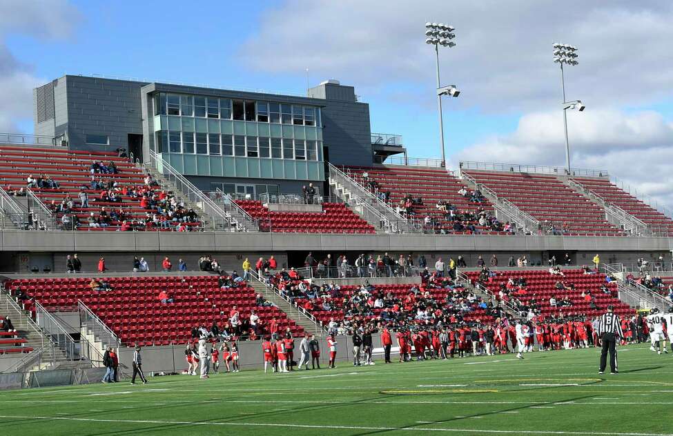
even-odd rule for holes
{"type": "Polygon", "coordinates": [[[300,1],[266,11],[259,32],[240,50],[269,73],[334,77],[364,95],[387,95],[396,83],[422,86],[432,108],[434,59],[427,19],[450,19],[455,48],[442,50],[442,77],[457,83],[456,104],[488,112],[540,110],[560,99],[552,42],[580,48],[567,72],[569,97],[594,106],[636,106],[663,99],[673,80],[670,1],[554,2],[514,0],[300,1]],[[662,90],[666,90],[663,92],[662,90]]]}

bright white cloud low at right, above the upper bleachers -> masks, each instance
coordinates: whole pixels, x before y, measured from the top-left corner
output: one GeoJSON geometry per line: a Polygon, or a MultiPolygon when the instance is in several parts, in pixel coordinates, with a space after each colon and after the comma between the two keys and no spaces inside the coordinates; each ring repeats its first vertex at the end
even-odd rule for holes
{"type": "MultiPolygon", "coordinates": [[[[521,117],[515,132],[496,135],[461,150],[457,162],[480,161],[565,166],[562,112],[521,117]]],[[[652,111],[625,113],[587,108],[568,112],[572,166],[607,170],[625,186],[671,208],[673,192],[673,123],[652,111]]]]}

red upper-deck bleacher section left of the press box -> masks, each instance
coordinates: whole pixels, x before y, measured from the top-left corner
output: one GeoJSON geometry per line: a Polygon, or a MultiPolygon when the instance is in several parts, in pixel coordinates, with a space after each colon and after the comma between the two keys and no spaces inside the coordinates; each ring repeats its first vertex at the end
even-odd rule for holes
{"type": "MultiPolygon", "coordinates": [[[[72,213],[79,219],[77,230],[117,230],[122,222],[110,220],[108,226],[90,227],[87,218],[93,212],[99,215],[101,208],[105,207],[110,214],[113,210],[122,211],[129,222],[142,223],[141,226],[133,226],[135,230],[175,230],[177,223],[167,221],[165,226],[157,226],[154,223],[146,223],[146,213],[151,212],[141,206],[139,197],[131,197],[124,193],[133,188],[146,189],[144,173],[136,168],[128,159],[117,157],[116,153],[73,151],[59,148],[21,148],[18,146],[0,146],[0,186],[8,192],[20,192],[26,189],[26,179],[32,177],[51,177],[58,188],[32,188],[35,196],[39,198],[47,208],[52,210],[57,224],[61,225],[62,212],[57,207],[70,197],[74,203],[72,213]],[[117,174],[92,174],[90,169],[94,161],[103,161],[109,165],[111,162],[117,167],[117,174]],[[101,192],[108,189],[91,189],[92,176],[101,179],[104,183],[116,182],[115,195],[119,201],[101,200],[101,192]],[[89,207],[81,208],[78,199],[79,192],[84,187],[88,194],[89,207]]],[[[157,192],[157,195],[160,192],[157,192]]],[[[185,223],[186,228],[199,226],[197,222],[185,223]]]]}

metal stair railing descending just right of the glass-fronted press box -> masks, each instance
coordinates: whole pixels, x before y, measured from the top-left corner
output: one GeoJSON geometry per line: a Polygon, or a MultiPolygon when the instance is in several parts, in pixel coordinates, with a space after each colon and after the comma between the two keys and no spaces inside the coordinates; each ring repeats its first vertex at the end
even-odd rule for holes
{"type": "Polygon", "coordinates": [[[339,191],[337,188],[339,184],[342,186],[342,190],[349,190],[349,198],[346,198],[347,195],[344,192],[342,199],[351,206],[360,206],[358,212],[367,221],[378,224],[377,228],[389,233],[419,232],[413,222],[410,223],[407,218],[402,217],[396,210],[369,192],[367,188],[358,184],[355,179],[332,164],[328,165],[330,184],[335,185],[336,192],[339,191]]]}

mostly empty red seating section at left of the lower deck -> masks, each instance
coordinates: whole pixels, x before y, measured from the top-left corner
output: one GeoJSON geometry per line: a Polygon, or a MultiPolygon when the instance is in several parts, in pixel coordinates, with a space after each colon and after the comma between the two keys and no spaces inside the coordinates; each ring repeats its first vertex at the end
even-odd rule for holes
{"type": "MultiPolygon", "coordinates": [[[[6,281],[14,293],[17,287],[48,310],[72,310],[81,300],[119,337],[124,344],[186,344],[191,329],[209,328],[229,317],[237,306],[241,319],[255,310],[262,325],[276,319],[277,327],[289,327],[293,335],[303,329],[273,306],[257,306],[255,290],[244,282],[238,288],[218,287],[217,276],[108,277],[112,290],[92,290],[91,278],[34,278],[6,281]],[[162,290],[170,291],[173,303],[159,301],[162,290]]],[[[26,306],[30,310],[30,301],[26,306]]],[[[220,324],[222,327],[222,324],[220,324]]]]}

